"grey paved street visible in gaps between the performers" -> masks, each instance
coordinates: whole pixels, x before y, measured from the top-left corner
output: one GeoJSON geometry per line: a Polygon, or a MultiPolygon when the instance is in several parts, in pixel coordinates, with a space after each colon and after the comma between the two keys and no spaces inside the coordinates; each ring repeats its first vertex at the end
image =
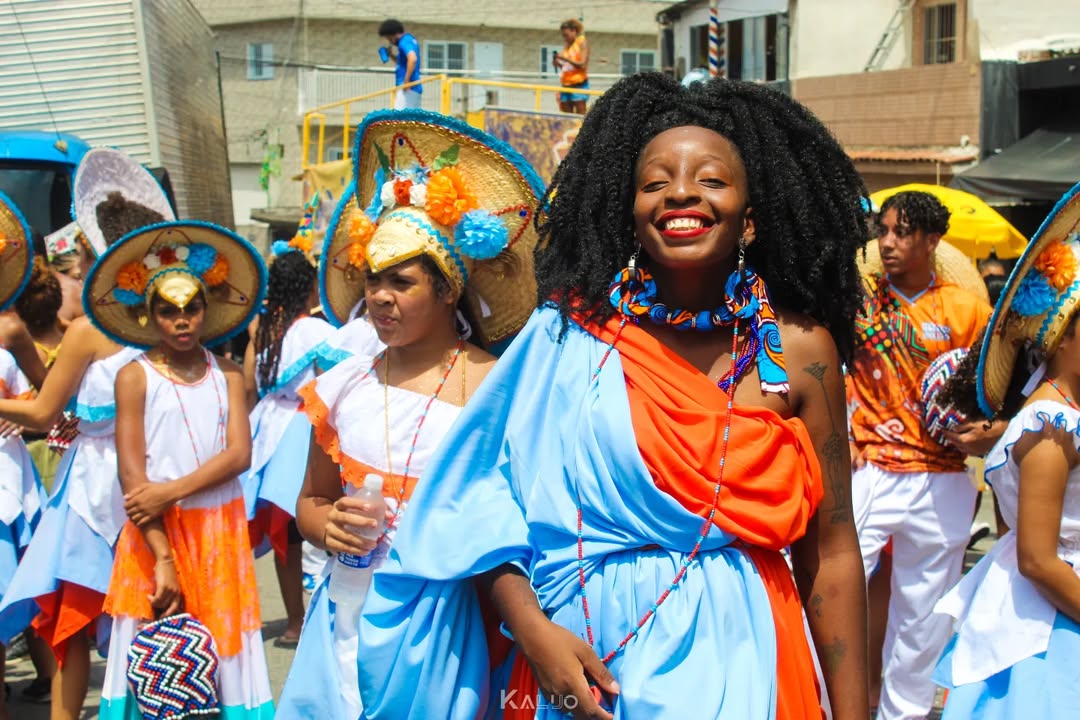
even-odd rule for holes
{"type": "MultiPolygon", "coordinates": [[[[980,508],[978,519],[994,525],[993,504],[989,502],[989,493],[980,508]]],[[[973,552],[968,553],[966,568],[970,568],[994,542],[994,538],[983,540],[976,545],[973,552]]],[[[292,650],[282,650],[273,647],[273,639],[285,630],[285,609],[281,602],[281,595],[278,592],[278,579],[274,576],[273,560],[267,555],[255,563],[255,571],[259,584],[259,601],[262,603],[262,638],[266,642],[267,662],[270,665],[270,683],[273,687],[274,701],[281,694],[281,688],[285,683],[285,676],[288,674],[289,663],[293,661],[292,650]]],[[[97,717],[97,704],[100,699],[98,690],[105,677],[105,661],[94,655],[93,675],[91,677],[90,697],[86,699],[86,707],[83,711],[83,720],[97,717]]],[[[33,679],[33,666],[29,660],[23,658],[8,664],[8,682],[12,685],[11,715],[13,720],[49,720],[48,705],[28,705],[19,701],[19,692],[33,679]]],[[[940,696],[940,693],[939,693],[940,696]]],[[[935,714],[932,717],[937,717],[935,714]]]]}

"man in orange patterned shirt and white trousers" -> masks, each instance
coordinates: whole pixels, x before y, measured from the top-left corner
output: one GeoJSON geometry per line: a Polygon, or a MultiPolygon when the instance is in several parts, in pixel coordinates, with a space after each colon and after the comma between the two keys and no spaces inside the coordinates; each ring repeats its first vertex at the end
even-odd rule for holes
{"type": "Polygon", "coordinates": [[[882,204],[878,245],[885,273],[866,281],[848,377],[852,506],[867,576],[893,543],[878,714],[883,720],[924,718],[931,710],[930,675],[949,631],[947,619],[932,615],[933,607],[960,576],[975,505],[964,458],[1001,430],[969,424],[953,436],[956,446],[944,446],[922,421],[922,373],[939,355],[970,348],[990,316],[985,300],[933,271],[948,216],[924,192],[896,193],[882,204]]]}

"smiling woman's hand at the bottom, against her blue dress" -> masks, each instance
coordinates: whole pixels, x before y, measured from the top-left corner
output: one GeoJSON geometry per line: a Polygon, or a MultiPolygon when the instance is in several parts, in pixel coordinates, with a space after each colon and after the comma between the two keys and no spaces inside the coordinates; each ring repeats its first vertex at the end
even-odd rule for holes
{"type": "Polygon", "coordinates": [[[615,717],[598,698],[602,692],[618,695],[619,683],[588,642],[546,617],[518,628],[514,637],[548,703],[578,720],[615,717]]]}

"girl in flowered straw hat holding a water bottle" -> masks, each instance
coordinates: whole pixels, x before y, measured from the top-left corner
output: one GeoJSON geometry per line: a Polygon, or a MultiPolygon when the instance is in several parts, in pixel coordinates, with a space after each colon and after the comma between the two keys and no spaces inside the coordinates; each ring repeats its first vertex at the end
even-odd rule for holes
{"type": "Polygon", "coordinates": [[[469,338],[487,345],[512,336],[536,296],[523,258],[535,246],[528,219],[540,184],[524,159],[422,111],[372,113],[357,132],[357,192],[327,228],[321,268],[323,308],[349,321],[341,337],[352,355],[299,391],[312,439],[297,525],[337,559],[312,596],[282,720],[362,717],[359,624],[372,574],[418,484],[437,483],[424,467],[495,362],[469,338]],[[386,166],[373,162],[378,152],[386,166]],[[442,204],[443,193],[458,191],[471,199],[442,204]],[[456,235],[459,221],[475,233],[456,235]],[[361,497],[373,492],[369,478],[381,484],[384,516],[381,503],[361,497]],[[354,532],[376,527],[384,527],[377,540],[354,532]]]}

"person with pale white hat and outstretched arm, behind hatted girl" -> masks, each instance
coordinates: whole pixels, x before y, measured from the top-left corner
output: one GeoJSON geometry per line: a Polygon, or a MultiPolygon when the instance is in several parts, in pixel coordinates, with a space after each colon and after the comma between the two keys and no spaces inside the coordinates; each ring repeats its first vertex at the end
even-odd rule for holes
{"type": "MultiPolygon", "coordinates": [[[[153,176],[117,150],[86,153],[73,194],[83,229],[83,276],[127,232],[173,217],[153,176]]],[[[79,420],[79,435],[57,467],[41,524],[0,602],[0,642],[32,621],[58,665],[53,720],[78,720],[90,685],[90,631],[102,615],[112,545],[125,519],[117,480],[113,381],[136,352],[107,338],[86,317],[71,322],[63,345],[37,397],[0,399],[0,419],[30,430],[49,431],[68,407],[79,420]]],[[[104,639],[103,633],[99,644],[104,639]]]]}

